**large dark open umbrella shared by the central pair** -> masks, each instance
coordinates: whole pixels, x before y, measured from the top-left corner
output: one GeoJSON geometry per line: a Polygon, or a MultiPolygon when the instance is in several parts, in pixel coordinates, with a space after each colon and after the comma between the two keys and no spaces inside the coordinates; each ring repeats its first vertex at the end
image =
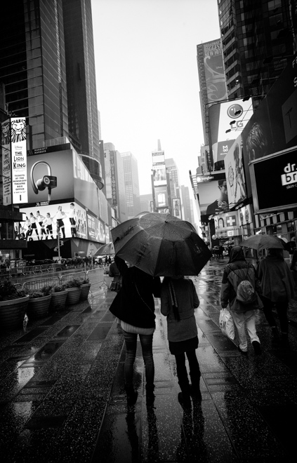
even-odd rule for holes
{"type": "Polygon", "coordinates": [[[152,276],[197,275],[211,252],[190,222],[140,214],[112,229],[116,255],[152,276]]]}

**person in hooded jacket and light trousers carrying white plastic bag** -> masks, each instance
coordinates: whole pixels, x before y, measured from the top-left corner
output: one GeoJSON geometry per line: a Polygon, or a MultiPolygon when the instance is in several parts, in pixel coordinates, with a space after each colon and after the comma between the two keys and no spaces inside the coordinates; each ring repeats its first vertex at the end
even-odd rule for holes
{"type": "Polygon", "coordinates": [[[242,246],[234,246],[230,253],[229,262],[223,272],[220,304],[223,309],[229,304],[230,313],[239,337],[238,350],[243,355],[248,354],[245,328],[249,333],[255,354],[259,355],[262,352],[255,323],[255,309],[263,307],[260,295],[260,280],[258,279],[255,267],[246,261],[242,246]],[[242,304],[242,302],[237,300],[237,286],[244,280],[248,280],[255,290],[255,301],[251,302],[251,304],[242,304]]]}

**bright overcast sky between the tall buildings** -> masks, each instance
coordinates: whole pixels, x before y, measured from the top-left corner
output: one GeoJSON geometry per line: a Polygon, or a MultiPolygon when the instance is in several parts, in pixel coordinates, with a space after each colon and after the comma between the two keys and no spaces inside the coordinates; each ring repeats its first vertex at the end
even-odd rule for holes
{"type": "Polygon", "coordinates": [[[180,183],[190,187],[188,171],[195,173],[204,144],[197,45],[220,37],[217,1],[91,3],[104,142],[136,156],[140,194],[151,192],[158,139],[176,161],[180,183]]]}

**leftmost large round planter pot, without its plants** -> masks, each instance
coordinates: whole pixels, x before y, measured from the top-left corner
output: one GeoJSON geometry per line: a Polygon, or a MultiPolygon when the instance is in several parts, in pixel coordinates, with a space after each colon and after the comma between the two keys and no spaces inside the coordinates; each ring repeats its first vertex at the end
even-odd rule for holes
{"type": "Polygon", "coordinates": [[[11,301],[0,301],[0,330],[22,328],[28,302],[29,295],[11,301]]]}

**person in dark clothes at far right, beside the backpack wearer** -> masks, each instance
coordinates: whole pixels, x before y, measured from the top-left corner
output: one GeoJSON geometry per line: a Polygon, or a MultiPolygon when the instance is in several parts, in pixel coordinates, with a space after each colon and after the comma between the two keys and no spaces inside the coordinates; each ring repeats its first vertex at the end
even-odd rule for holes
{"type": "Polygon", "coordinates": [[[276,307],[282,332],[283,347],[289,347],[288,305],[294,295],[294,281],[291,271],[284,261],[282,249],[268,249],[268,255],[258,263],[258,276],[262,288],[264,314],[272,329],[272,342],[279,340],[279,332],[272,307],[276,307]]]}

